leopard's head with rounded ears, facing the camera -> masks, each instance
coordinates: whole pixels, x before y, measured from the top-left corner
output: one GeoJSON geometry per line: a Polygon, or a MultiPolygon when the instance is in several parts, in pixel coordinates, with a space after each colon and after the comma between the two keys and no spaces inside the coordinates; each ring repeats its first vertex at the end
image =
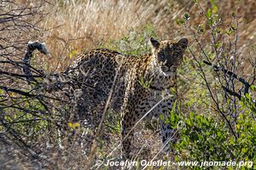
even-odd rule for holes
{"type": "Polygon", "coordinates": [[[154,54],[154,65],[160,68],[165,76],[171,76],[181,64],[183,53],[188,47],[189,40],[185,37],[177,42],[171,40],[158,42],[150,38],[152,53],[154,54]]]}

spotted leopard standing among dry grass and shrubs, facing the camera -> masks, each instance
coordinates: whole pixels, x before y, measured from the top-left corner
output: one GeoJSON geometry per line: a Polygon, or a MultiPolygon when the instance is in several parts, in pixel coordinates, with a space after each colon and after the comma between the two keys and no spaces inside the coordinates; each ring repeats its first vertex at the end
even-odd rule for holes
{"type": "Polygon", "coordinates": [[[151,37],[149,44],[151,53],[139,57],[108,48],[92,49],[80,54],[66,71],[55,75],[55,81],[48,80],[48,84],[58,84],[58,88],[65,83],[71,86],[71,94],[79,96],[77,111],[81,116],[90,111],[102,114],[109,99],[108,108],[122,117],[122,151],[127,158],[132,157],[132,141],[138,122],[153,117],[160,119],[163,144],[174,132],[165,119],[177,99],[177,68],[189,40],[183,37],[178,41],[158,41],[151,37]],[[142,82],[148,82],[148,86],[143,86],[142,82]]]}

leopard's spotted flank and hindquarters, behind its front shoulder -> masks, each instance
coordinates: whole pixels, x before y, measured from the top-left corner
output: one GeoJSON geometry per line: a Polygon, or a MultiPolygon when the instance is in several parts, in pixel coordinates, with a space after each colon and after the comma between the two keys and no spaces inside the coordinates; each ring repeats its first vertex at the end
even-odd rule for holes
{"type": "Polygon", "coordinates": [[[137,82],[134,79],[139,60],[109,49],[94,49],[80,55],[67,71],[83,91],[80,108],[102,111],[112,92],[109,107],[121,111],[132,82],[137,82]]]}

